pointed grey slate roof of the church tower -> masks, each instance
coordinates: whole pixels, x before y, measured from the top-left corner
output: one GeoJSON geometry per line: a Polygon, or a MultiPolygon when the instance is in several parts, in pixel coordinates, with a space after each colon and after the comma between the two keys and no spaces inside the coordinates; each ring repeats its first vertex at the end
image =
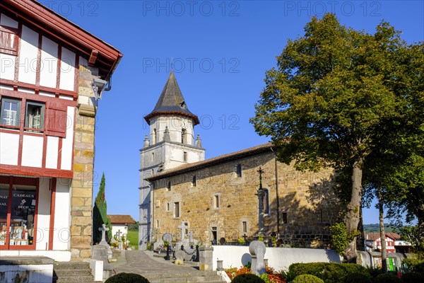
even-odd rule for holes
{"type": "Polygon", "coordinates": [[[175,79],[174,72],[171,71],[170,76],[165,83],[162,93],[156,103],[153,111],[146,115],[144,119],[150,125],[150,120],[160,114],[165,115],[183,115],[190,117],[194,120],[194,125],[199,124],[199,118],[190,112],[185,103],[184,97],[182,96],[181,90],[179,89],[177,79],[175,79]]]}

